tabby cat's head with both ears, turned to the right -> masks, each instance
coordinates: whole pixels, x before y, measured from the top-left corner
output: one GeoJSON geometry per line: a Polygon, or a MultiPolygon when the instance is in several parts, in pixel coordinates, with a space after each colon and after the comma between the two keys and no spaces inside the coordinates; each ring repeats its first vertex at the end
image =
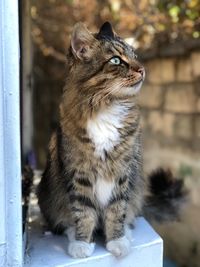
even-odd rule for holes
{"type": "Polygon", "coordinates": [[[145,77],[133,47],[113,31],[109,22],[95,34],[77,23],[72,32],[68,63],[71,79],[83,95],[133,96],[145,77]]]}

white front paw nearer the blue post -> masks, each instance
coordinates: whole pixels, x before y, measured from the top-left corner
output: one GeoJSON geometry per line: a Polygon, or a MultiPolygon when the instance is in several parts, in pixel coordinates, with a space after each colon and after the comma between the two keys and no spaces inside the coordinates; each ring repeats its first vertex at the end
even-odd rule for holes
{"type": "Polygon", "coordinates": [[[68,253],[73,258],[86,258],[92,255],[95,243],[74,240],[69,242],[68,253]]]}

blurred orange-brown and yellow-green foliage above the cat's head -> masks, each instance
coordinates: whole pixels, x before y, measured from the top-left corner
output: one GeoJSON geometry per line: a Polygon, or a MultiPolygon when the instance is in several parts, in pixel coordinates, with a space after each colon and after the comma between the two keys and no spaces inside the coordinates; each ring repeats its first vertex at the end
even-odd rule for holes
{"type": "Polygon", "coordinates": [[[143,49],[200,37],[200,0],[32,0],[31,16],[34,42],[58,60],[77,21],[91,31],[111,21],[119,35],[134,37],[143,49]]]}

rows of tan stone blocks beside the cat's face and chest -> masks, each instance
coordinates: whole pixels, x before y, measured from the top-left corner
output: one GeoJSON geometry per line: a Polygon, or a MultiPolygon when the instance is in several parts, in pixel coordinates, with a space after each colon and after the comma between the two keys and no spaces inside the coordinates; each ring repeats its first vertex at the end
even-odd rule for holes
{"type": "Polygon", "coordinates": [[[200,149],[200,52],[144,63],[140,104],[148,133],[161,144],[200,149]]]}

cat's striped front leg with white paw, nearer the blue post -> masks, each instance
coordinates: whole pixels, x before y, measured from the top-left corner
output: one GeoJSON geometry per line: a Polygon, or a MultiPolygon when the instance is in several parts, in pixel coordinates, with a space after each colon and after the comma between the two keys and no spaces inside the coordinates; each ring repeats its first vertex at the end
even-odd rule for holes
{"type": "Polygon", "coordinates": [[[69,239],[68,253],[73,258],[89,257],[95,248],[95,243],[92,242],[97,222],[95,207],[90,199],[78,194],[70,200],[74,226],[66,231],[69,239]]]}

